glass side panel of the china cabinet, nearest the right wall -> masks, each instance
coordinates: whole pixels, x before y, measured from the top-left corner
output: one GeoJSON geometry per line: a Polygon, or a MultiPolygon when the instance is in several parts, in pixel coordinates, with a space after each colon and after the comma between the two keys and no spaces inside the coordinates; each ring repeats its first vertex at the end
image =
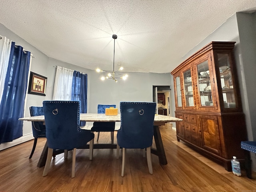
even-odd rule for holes
{"type": "Polygon", "coordinates": [[[224,108],[236,108],[236,98],[233,87],[232,73],[230,70],[229,55],[227,53],[218,53],[217,57],[224,108]]]}

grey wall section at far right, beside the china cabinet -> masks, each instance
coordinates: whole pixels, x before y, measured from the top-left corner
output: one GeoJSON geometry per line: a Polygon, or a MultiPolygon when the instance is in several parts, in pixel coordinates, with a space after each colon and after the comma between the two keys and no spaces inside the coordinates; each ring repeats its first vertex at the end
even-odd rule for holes
{"type": "Polygon", "coordinates": [[[243,72],[240,84],[243,107],[246,114],[248,139],[256,140],[256,14],[237,13],[240,50],[238,59],[243,72]]]}

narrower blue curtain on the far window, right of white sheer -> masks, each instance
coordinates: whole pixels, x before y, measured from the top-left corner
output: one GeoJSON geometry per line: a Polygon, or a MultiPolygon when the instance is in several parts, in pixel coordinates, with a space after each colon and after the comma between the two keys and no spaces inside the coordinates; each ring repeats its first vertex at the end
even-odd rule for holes
{"type": "MultiPolygon", "coordinates": [[[[87,74],[74,71],[72,80],[71,100],[81,101],[81,113],[87,112],[87,74]]],[[[80,126],[85,126],[86,122],[80,122],[80,126]]]]}

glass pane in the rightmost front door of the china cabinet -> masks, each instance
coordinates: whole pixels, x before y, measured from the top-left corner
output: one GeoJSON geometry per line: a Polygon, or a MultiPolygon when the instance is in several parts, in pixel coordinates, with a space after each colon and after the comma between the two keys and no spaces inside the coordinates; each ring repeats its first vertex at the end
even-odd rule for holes
{"type": "Polygon", "coordinates": [[[197,64],[200,106],[213,106],[208,59],[197,64]]]}

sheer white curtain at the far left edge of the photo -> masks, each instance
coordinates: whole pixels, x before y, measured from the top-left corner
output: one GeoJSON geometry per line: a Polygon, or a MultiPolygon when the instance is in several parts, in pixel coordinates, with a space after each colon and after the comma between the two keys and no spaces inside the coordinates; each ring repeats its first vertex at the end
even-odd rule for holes
{"type": "Polygon", "coordinates": [[[8,68],[12,41],[0,35],[0,101],[4,91],[4,82],[8,68]]]}

